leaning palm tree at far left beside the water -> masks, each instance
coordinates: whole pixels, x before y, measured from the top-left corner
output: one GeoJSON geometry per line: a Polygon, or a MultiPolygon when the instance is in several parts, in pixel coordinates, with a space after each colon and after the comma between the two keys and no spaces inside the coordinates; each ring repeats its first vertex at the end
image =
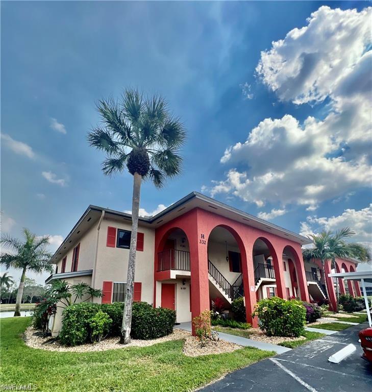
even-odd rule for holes
{"type": "Polygon", "coordinates": [[[20,241],[17,238],[13,238],[5,234],[2,236],[0,241],[5,248],[9,248],[11,250],[10,253],[3,253],[0,256],[0,263],[4,264],[7,269],[10,267],[22,269],[14,316],[20,316],[20,305],[23,296],[26,272],[32,271],[39,274],[44,271],[50,273],[53,272],[52,264],[49,264],[52,254],[46,251],[46,246],[49,243],[49,237],[37,237],[36,234],[31,233],[28,229],[23,229],[23,236],[24,241],[20,241]]]}

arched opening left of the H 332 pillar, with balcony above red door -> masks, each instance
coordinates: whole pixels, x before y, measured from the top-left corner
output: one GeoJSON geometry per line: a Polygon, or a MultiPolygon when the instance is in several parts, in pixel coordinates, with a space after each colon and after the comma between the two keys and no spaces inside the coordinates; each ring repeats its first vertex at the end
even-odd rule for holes
{"type": "Polygon", "coordinates": [[[169,229],[156,251],[155,307],[176,310],[178,323],[191,320],[190,248],[186,233],[169,229]]]}

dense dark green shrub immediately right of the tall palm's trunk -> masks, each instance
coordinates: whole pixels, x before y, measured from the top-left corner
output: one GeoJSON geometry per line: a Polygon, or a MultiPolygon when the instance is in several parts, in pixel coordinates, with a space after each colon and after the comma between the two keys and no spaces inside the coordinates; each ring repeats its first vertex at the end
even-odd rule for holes
{"type": "Polygon", "coordinates": [[[132,331],[134,339],[155,339],[172,333],[176,312],[166,308],[154,308],[147,302],[134,302],[132,331]]]}

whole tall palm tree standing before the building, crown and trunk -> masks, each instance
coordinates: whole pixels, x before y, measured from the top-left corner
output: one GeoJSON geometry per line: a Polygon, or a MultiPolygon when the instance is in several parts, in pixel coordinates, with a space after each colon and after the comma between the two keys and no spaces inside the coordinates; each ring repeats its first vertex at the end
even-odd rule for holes
{"type": "Polygon", "coordinates": [[[178,117],[171,115],[166,101],[159,95],[144,97],[126,89],[120,102],[112,98],[97,103],[102,125],[88,133],[91,146],[106,153],[102,164],[105,175],[127,169],[133,176],[132,236],[129,250],[127,293],[120,342],[130,342],[137,228],[142,180],[151,180],[158,188],[166,178],[180,174],[180,148],[186,132],[178,117]]]}

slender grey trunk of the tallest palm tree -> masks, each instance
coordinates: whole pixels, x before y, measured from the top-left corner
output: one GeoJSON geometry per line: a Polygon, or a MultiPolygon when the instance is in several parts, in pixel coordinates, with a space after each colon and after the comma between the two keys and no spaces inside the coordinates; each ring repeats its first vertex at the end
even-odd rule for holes
{"type": "Polygon", "coordinates": [[[131,245],[129,248],[128,274],[127,274],[127,293],[121,325],[121,344],[131,342],[132,307],[134,292],[134,273],[136,269],[136,248],[138,231],[139,198],[141,192],[142,176],[135,173],[133,176],[133,198],[132,198],[132,234],[131,245]]]}

